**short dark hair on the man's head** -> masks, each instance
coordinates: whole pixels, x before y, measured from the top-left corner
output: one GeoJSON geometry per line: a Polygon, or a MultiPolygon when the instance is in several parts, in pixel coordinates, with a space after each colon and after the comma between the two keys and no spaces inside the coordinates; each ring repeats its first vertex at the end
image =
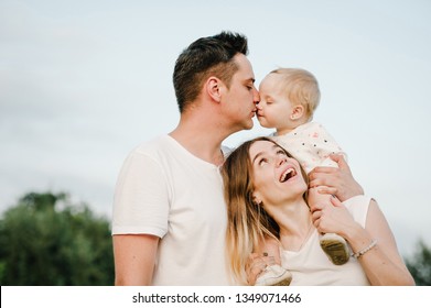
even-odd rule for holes
{"type": "Polygon", "coordinates": [[[247,37],[227,31],[201,37],[181,53],[173,73],[180,112],[197,98],[203,81],[211,75],[230,86],[231,77],[238,70],[233,58],[238,53],[248,54],[247,37]]]}

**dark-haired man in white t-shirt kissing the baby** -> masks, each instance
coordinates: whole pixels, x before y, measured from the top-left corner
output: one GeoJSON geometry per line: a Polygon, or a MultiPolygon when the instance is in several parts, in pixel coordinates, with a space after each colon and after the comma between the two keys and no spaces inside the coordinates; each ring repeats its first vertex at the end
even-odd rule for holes
{"type": "Polygon", "coordinates": [[[138,146],[114,205],[116,285],[228,285],[222,142],[252,128],[258,91],[244,35],[202,37],[176,59],[181,119],[138,146]]]}

